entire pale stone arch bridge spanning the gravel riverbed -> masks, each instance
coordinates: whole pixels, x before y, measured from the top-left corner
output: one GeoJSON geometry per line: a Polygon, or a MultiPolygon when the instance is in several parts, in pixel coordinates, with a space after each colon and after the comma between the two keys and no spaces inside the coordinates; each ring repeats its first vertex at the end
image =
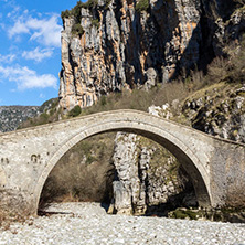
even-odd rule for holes
{"type": "Polygon", "coordinates": [[[129,131],[171,151],[201,206],[245,206],[245,145],[137,110],[115,110],[0,135],[0,211],[34,215],[51,170],[93,135],[129,131]]]}

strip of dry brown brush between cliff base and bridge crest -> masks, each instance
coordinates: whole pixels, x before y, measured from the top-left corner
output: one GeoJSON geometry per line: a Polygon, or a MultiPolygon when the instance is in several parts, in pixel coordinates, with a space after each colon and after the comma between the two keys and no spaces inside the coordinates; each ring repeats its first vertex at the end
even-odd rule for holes
{"type": "Polygon", "coordinates": [[[158,84],[158,86],[146,92],[143,89],[126,90],[118,94],[103,96],[96,105],[82,109],[79,116],[95,114],[99,111],[116,109],[137,109],[148,111],[149,106],[162,106],[166,103],[171,104],[174,99],[179,102],[189,96],[195,87],[203,87],[201,81],[180,82],[174,81],[168,84],[158,84]],[[200,83],[199,86],[194,83],[200,83]]]}

